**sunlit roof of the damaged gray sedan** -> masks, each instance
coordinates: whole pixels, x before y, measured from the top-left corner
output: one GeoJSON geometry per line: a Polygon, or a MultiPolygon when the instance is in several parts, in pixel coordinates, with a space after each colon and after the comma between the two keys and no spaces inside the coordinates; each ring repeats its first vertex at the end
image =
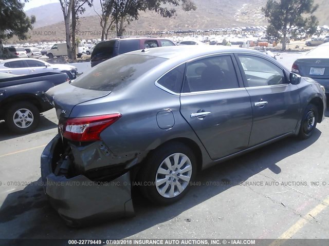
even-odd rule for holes
{"type": "Polygon", "coordinates": [[[216,53],[230,53],[230,52],[248,52],[254,54],[261,54],[267,57],[264,53],[243,48],[234,48],[230,46],[212,46],[212,45],[184,45],[184,46],[166,46],[151,49],[143,49],[132,51],[125,54],[149,55],[166,59],[184,58],[185,60],[193,59],[203,55],[211,55],[216,53]]]}

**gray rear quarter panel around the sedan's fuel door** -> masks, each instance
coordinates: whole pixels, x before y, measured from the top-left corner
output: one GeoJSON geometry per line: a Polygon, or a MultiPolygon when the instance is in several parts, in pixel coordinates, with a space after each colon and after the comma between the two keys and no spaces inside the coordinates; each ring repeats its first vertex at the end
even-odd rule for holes
{"type": "Polygon", "coordinates": [[[169,140],[188,138],[198,145],[203,162],[209,162],[203,145],[180,114],[179,95],[156,87],[154,83],[159,77],[156,72],[151,72],[130,84],[129,89],[122,88],[106,97],[79,104],[70,117],[121,113],[122,117],[101,133],[102,140],[115,156],[146,155],[169,140]],[[161,129],[156,115],[168,109],[174,115],[174,126],[161,129]]]}

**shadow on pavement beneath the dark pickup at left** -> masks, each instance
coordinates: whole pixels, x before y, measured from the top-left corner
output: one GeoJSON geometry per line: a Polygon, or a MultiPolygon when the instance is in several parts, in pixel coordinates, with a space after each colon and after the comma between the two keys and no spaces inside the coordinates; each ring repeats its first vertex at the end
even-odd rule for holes
{"type": "MultiPolygon", "coordinates": [[[[42,131],[46,131],[46,130],[53,129],[53,128],[57,128],[57,124],[55,124],[51,120],[47,119],[45,116],[40,115],[39,125],[31,133],[42,132],[42,131]]],[[[26,136],[26,135],[31,134],[31,133],[27,133],[27,134],[15,134],[15,133],[12,133],[7,128],[6,122],[5,121],[0,121],[0,141],[12,139],[12,138],[15,138],[15,137],[26,136]]]]}

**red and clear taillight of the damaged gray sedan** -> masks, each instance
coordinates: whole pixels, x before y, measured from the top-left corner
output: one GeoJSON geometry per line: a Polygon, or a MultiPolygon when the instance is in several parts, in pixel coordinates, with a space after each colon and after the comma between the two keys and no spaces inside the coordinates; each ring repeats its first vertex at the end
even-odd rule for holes
{"type": "Polygon", "coordinates": [[[80,118],[68,118],[63,124],[63,136],[79,142],[101,139],[101,132],[121,118],[121,114],[107,114],[80,118]]]}

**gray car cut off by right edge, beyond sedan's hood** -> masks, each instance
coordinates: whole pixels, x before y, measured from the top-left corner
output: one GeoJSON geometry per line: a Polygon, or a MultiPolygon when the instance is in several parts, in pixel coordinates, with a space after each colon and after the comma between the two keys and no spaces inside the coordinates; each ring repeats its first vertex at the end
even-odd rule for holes
{"type": "Polygon", "coordinates": [[[297,59],[291,71],[310,77],[324,86],[329,93],[329,43],[320,45],[297,59]]]}

